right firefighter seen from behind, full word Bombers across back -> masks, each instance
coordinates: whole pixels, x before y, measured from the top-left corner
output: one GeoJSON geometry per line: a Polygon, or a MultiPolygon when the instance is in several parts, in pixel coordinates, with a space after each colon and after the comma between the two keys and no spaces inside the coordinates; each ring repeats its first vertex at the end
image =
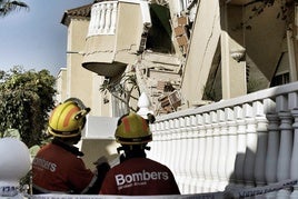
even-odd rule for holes
{"type": "Polygon", "coordinates": [[[117,123],[116,141],[120,163],[107,173],[100,195],[151,196],[180,195],[170,169],[157,161],[146,158],[146,151],[152,141],[149,119],[137,113],[122,116],[117,123]]]}

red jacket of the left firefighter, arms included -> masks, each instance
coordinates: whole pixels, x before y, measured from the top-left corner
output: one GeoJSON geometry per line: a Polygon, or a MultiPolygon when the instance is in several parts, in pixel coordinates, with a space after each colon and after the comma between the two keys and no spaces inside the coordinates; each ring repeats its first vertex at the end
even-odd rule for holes
{"type": "Polygon", "coordinates": [[[81,158],[53,143],[37,153],[32,175],[33,188],[40,192],[83,193],[97,179],[81,158]]]}

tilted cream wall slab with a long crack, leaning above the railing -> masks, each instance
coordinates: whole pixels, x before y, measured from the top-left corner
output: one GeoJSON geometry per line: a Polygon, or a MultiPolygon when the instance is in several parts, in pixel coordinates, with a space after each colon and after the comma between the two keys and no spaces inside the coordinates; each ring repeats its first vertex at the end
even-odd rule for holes
{"type": "Polygon", "coordinates": [[[182,96],[189,106],[202,98],[212,59],[219,42],[218,1],[200,1],[182,79],[182,96]]]}

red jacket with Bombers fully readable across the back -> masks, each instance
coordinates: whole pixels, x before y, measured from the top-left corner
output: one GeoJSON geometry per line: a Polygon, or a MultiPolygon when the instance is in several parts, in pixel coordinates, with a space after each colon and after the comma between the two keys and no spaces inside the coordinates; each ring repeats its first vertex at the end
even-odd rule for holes
{"type": "Polygon", "coordinates": [[[107,173],[99,193],[150,196],[180,191],[169,168],[148,158],[131,158],[107,173]]]}

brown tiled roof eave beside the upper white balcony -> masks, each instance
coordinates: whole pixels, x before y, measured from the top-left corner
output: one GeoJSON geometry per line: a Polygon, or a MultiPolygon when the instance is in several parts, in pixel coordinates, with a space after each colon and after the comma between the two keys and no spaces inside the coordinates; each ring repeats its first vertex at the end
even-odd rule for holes
{"type": "Polygon", "coordinates": [[[71,17],[89,18],[91,12],[91,6],[92,3],[64,11],[63,17],[61,19],[61,23],[67,26],[71,17]]]}

